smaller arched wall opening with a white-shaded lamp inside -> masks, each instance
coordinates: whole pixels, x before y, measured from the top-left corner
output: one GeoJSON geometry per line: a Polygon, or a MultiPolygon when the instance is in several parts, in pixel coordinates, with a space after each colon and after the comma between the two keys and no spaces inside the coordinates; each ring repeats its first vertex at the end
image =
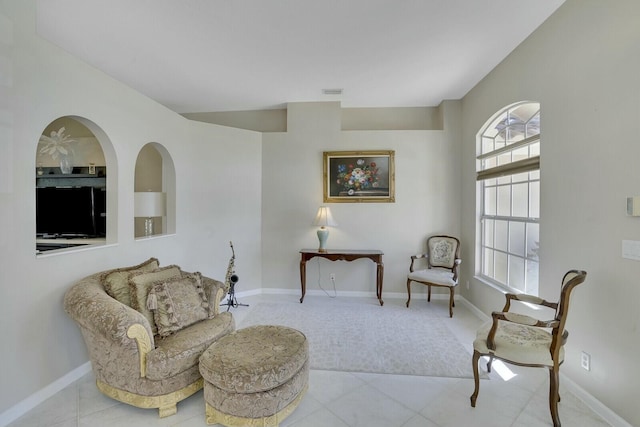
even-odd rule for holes
{"type": "Polygon", "coordinates": [[[140,199],[136,195],[134,214],[135,238],[152,235],[174,234],[176,231],[176,173],[169,151],[157,142],[145,144],[136,159],[134,191],[136,193],[163,193],[165,215],[151,217],[153,232],[147,234],[145,221],[138,216],[140,199]]]}

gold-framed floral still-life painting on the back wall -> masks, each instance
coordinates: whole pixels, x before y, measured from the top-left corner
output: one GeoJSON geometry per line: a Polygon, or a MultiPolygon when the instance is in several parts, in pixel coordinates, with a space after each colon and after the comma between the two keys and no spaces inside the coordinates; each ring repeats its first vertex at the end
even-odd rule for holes
{"type": "Polygon", "coordinates": [[[395,202],[395,151],[325,151],[324,202],[395,202]]]}

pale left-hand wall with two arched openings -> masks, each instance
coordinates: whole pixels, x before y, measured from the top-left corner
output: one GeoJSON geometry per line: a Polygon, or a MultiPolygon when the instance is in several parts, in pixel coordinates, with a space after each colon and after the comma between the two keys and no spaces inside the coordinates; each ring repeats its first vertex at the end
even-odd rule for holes
{"type": "Polygon", "coordinates": [[[151,256],[224,279],[234,241],[245,286],[260,275],[261,136],[190,122],[41,40],[35,0],[0,2],[0,414],[87,361],[64,292],[85,275],[151,256]],[[35,168],[42,130],[60,116],[110,140],[109,245],[36,257],[35,168]],[[176,172],[176,234],[134,240],[135,162],[162,144],[176,172]]]}

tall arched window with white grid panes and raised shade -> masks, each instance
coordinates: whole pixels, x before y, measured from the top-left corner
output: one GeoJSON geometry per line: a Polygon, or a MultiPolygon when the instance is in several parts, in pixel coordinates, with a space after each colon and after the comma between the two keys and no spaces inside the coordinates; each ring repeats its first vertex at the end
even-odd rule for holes
{"type": "Polygon", "coordinates": [[[479,135],[480,268],[484,279],[538,294],[540,104],[498,112],[479,135]]]}

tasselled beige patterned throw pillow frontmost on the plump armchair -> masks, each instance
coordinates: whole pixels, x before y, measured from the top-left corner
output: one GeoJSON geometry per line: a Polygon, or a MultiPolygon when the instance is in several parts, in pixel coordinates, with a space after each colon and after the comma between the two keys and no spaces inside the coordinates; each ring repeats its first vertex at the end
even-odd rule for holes
{"type": "Polygon", "coordinates": [[[151,286],[147,308],[153,311],[158,335],[166,337],[209,318],[209,302],[200,273],[185,274],[151,286]]]}

